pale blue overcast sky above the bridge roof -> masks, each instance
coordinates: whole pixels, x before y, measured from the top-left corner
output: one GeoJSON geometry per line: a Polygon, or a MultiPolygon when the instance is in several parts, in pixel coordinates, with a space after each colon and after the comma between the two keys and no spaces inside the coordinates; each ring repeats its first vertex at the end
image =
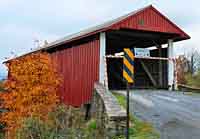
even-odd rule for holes
{"type": "Polygon", "coordinates": [[[177,54],[198,49],[199,0],[0,0],[0,62],[30,51],[36,39],[50,42],[149,4],[192,37],[176,43],[177,54]]]}

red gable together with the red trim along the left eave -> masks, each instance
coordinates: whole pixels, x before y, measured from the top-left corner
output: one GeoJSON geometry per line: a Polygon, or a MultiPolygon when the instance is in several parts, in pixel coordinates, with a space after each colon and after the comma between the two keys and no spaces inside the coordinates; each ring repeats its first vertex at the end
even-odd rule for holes
{"type": "Polygon", "coordinates": [[[160,13],[156,8],[150,5],[142,10],[139,10],[138,12],[133,13],[131,16],[128,16],[127,18],[121,21],[112,23],[108,26],[102,26],[102,28],[99,28],[95,31],[91,31],[81,36],[60,42],[55,46],[76,41],[88,36],[98,34],[100,32],[106,32],[110,29],[120,29],[120,28],[155,31],[163,33],[177,33],[181,36],[181,40],[190,39],[190,36],[186,34],[181,28],[179,28],[176,24],[171,22],[166,16],[160,13]],[[140,19],[143,19],[145,23],[142,26],[138,24],[140,19]]]}

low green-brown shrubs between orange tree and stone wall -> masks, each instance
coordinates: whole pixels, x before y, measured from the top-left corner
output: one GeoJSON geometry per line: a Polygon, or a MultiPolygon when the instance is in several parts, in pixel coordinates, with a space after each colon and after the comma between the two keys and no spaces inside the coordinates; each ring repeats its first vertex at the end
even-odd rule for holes
{"type": "Polygon", "coordinates": [[[38,117],[24,119],[22,127],[17,130],[17,139],[93,139],[96,135],[96,122],[86,123],[80,109],[58,106],[49,112],[43,121],[38,117]],[[76,123],[76,124],[75,124],[76,123]]]}

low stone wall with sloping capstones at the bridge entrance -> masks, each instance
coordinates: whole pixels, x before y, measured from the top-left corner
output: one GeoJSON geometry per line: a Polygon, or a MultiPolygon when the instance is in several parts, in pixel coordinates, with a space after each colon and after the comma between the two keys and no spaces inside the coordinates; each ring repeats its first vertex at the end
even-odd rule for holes
{"type": "Polygon", "coordinates": [[[102,138],[124,135],[126,129],[126,111],[115,96],[99,83],[95,84],[92,100],[92,118],[97,120],[97,128],[101,128],[102,138]]]}

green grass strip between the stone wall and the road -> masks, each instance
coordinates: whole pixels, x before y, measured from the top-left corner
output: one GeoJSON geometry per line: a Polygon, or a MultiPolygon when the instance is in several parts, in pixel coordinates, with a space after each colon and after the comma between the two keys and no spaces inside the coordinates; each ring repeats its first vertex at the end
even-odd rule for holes
{"type": "MultiPolygon", "coordinates": [[[[126,108],[126,98],[123,95],[113,93],[117,98],[119,104],[126,108]]],[[[130,115],[130,139],[159,139],[159,133],[153,128],[153,126],[147,122],[143,122],[138,118],[130,115]]],[[[124,139],[124,136],[116,137],[114,139],[124,139]]]]}

